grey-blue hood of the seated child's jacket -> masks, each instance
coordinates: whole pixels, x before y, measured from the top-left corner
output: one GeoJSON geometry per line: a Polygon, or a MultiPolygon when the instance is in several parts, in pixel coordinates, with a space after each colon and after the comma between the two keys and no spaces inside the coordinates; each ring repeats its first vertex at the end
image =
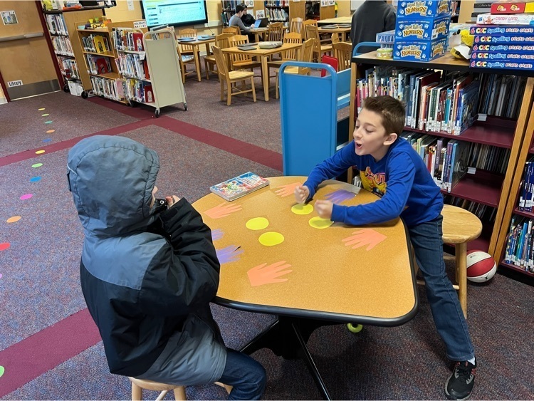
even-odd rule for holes
{"type": "Polygon", "coordinates": [[[159,157],[126,137],[95,135],[68,152],[68,182],[86,236],[106,238],[144,231],[159,157]]]}

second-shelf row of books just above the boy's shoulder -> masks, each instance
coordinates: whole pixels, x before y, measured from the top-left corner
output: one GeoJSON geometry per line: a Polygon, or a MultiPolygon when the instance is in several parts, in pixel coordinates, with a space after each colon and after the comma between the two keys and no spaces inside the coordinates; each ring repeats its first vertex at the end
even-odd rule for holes
{"type": "Polygon", "coordinates": [[[417,132],[402,132],[414,150],[422,157],[434,182],[451,192],[464,175],[476,169],[504,174],[510,150],[479,143],[437,138],[417,132]]]}

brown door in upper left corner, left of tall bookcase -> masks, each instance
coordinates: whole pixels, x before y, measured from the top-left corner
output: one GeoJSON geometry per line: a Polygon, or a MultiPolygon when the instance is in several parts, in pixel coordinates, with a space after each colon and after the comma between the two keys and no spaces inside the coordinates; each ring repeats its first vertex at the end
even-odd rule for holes
{"type": "Polygon", "coordinates": [[[10,100],[59,90],[35,1],[0,1],[0,76],[10,100]]]}

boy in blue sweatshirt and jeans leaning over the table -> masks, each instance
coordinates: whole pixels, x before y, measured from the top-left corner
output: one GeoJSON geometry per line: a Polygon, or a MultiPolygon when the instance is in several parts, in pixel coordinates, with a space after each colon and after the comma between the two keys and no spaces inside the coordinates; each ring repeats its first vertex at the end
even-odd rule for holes
{"type": "Polygon", "coordinates": [[[295,198],[300,203],[310,201],[325,179],[356,167],[363,187],[381,199],[349,207],[317,200],[315,210],[319,216],[354,226],[387,222],[399,216],[404,219],[426,282],[436,329],[445,342],[447,357],[456,361],[446,380],[445,393],[449,400],[466,400],[473,390],[476,360],[464,313],[445,272],[443,197],[422,158],[407,140],[399,137],[404,115],[402,103],[391,96],[365,99],[352,134],[354,140],[315,166],[308,180],[295,188],[295,198]]]}

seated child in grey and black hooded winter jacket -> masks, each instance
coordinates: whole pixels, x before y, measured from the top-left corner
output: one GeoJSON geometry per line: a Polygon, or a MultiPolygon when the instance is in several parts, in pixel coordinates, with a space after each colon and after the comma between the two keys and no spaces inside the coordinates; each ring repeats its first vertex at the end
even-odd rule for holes
{"type": "Polygon", "coordinates": [[[80,281],[111,373],[176,385],[224,382],[258,400],[266,373],[225,347],[209,302],[219,286],[211,231],[186,199],[156,209],[159,158],[139,142],[95,135],[68,152],[85,232],[80,281]]]}

